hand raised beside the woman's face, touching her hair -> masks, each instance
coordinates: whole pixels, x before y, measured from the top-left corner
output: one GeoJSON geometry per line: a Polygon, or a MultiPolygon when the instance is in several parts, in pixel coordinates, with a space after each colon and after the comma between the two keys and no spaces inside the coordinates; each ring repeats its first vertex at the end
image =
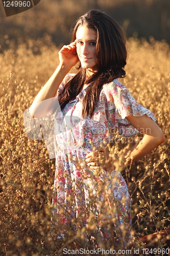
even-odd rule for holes
{"type": "Polygon", "coordinates": [[[59,61],[61,66],[69,67],[69,69],[76,65],[79,61],[76,54],[76,40],[61,48],[59,51],[59,61]]]}

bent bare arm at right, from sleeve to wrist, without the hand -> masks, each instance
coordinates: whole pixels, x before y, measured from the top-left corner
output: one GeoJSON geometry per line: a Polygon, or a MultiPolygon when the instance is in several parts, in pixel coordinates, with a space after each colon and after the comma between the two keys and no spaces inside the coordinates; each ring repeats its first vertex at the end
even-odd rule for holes
{"type": "MultiPolygon", "coordinates": [[[[134,162],[147,155],[165,141],[165,136],[159,126],[147,115],[138,117],[127,116],[126,118],[141,134],[143,134],[142,140],[130,153],[129,160],[127,159],[128,162],[134,162]]],[[[125,156],[125,158],[127,158],[127,156],[125,156]]]]}

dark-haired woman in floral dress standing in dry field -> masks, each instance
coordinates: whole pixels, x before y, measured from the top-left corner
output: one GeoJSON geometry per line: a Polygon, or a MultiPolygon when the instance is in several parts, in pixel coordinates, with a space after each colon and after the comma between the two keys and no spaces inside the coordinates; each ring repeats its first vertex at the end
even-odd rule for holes
{"type": "Polygon", "coordinates": [[[95,234],[97,243],[110,240],[126,247],[131,240],[128,188],[108,161],[106,145],[115,129],[127,137],[143,133],[143,139],[123,157],[127,165],[151,152],[165,138],[153,113],[136,102],[118,81],[126,74],[126,59],[122,29],[107,14],[91,10],[77,20],[71,44],[59,51],[59,66],[31,105],[33,117],[53,112],[56,96],[61,107],[55,118],[53,199],[58,237],[92,218],[95,228],[89,228],[89,233],[95,234]],[[77,63],[79,72],[68,74],[77,63]],[[47,99],[42,109],[39,102],[47,99]]]}

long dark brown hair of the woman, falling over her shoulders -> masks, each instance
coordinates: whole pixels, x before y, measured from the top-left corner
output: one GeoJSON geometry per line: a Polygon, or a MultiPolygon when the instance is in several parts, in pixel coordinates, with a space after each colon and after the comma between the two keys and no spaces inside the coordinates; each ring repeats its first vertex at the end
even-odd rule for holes
{"type": "Polygon", "coordinates": [[[70,100],[75,99],[84,83],[91,84],[83,100],[82,116],[92,117],[103,84],[126,75],[126,38],[117,22],[99,10],[90,10],[77,20],[72,31],[72,41],[76,39],[79,26],[86,26],[96,32],[96,61],[99,70],[86,79],[86,70],[79,61],[79,72],[65,84],[60,106],[63,109],[70,100]]]}

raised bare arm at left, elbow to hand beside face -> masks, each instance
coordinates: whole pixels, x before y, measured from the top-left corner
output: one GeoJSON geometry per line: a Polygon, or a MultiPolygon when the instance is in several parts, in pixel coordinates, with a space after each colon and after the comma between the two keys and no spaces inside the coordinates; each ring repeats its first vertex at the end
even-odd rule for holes
{"type": "Polygon", "coordinates": [[[63,46],[59,51],[59,66],[39,91],[30,106],[30,114],[32,117],[42,117],[53,111],[56,104],[55,96],[60,83],[79,60],[78,57],[75,56],[75,52],[76,42],[63,46]]]}

